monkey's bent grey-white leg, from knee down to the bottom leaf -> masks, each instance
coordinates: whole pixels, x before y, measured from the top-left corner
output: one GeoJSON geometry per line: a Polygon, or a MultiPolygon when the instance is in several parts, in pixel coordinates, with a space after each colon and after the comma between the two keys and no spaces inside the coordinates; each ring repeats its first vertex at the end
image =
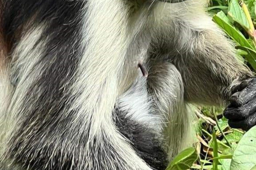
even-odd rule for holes
{"type": "Polygon", "coordinates": [[[193,142],[193,118],[184,101],[180,72],[168,62],[150,61],[148,89],[163,119],[163,137],[169,160],[193,142]]]}

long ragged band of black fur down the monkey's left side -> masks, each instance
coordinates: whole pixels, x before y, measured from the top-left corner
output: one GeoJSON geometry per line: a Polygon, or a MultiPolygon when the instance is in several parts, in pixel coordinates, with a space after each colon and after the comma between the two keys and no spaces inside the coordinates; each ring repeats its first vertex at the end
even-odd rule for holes
{"type": "MultiPolygon", "coordinates": [[[[9,156],[25,168],[30,167],[33,170],[80,168],[77,167],[78,160],[68,148],[60,146],[59,148],[65,153],[61,154],[61,150],[55,151],[54,146],[65,146],[67,141],[65,129],[69,129],[68,125],[75,114],[71,111],[65,113],[65,117],[62,115],[64,109],[67,110],[72,103],[67,91],[70,89],[69,82],[72,82],[83,51],[80,44],[83,24],[81,12],[84,6],[84,1],[5,1],[4,35],[12,49],[21,38],[19,29],[26,27],[30,30],[40,24],[46,26],[34,48],[38,48],[40,41],[47,39],[47,46],[37,63],[47,67],[42,70],[42,76],[31,85],[21,103],[23,108],[30,108],[31,105],[33,108],[26,110],[26,113],[20,111],[19,114],[23,115],[22,120],[19,121],[21,128],[13,135],[10,143],[14,145],[8,151],[9,156]],[[31,25],[28,24],[29,20],[33,21],[31,25]],[[42,93],[39,94],[38,91],[42,93]],[[48,162],[51,153],[55,153],[52,159],[54,167],[51,167],[52,162],[48,162]],[[64,159],[69,161],[63,162],[64,159]]],[[[14,74],[18,74],[19,69],[14,69],[12,70],[14,74]]],[[[15,77],[12,82],[15,87],[19,86],[19,77],[15,77]]],[[[84,136],[77,145],[85,145],[86,135],[84,136]]]]}

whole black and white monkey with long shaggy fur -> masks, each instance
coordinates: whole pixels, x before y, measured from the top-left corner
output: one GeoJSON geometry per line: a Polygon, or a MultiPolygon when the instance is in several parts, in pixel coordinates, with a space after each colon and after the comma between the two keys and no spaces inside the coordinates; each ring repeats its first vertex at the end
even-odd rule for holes
{"type": "Polygon", "coordinates": [[[256,124],[256,80],[206,0],[0,5],[0,170],[163,170],[193,141],[189,103],[256,124]]]}

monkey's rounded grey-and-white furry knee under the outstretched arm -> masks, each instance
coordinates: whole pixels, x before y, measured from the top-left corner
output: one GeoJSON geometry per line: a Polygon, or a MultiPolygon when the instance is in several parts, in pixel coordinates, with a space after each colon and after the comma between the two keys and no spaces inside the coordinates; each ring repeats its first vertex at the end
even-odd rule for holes
{"type": "Polygon", "coordinates": [[[180,72],[169,62],[153,63],[148,75],[148,89],[164,112],[184,105],[184,86],[180,72]]]}

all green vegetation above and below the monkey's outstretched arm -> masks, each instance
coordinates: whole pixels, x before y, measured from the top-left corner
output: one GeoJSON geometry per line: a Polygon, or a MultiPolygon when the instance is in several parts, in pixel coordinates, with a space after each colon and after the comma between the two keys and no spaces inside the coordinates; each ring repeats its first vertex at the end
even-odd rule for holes
{"type": "MultiPolygon", "coordinates": [[[[256,0],[212,0],[213,21],[236,43],[237,57],[256,70],[256,0]]],[[[256,170],[256,127],[228,126],[222,108],[202,107],[194,148],[182,151],[167,170],[256,170]]]]}

